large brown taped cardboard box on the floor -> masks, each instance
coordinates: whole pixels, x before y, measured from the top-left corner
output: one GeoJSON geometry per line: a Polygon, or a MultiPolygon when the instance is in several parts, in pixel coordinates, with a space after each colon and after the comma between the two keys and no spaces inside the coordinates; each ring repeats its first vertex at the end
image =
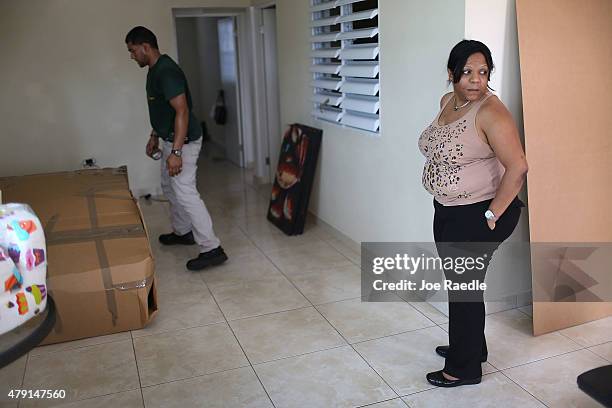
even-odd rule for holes
{"type": "Polygon", "coordinates": [[[47,239],[57,323],[42,344],[147,325],[157,312],[148,234],[127,169],[0,178],[5,202],[27,203],[47,239]]]}

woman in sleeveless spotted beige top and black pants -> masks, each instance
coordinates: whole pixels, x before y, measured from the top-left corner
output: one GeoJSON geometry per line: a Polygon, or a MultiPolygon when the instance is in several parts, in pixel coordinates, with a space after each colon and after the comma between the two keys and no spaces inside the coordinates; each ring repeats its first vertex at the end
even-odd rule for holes
{"type": "MultiPolygon", "coordinates": [[[[527,161],[512,115],[489,92],[493,60],[489,48],[463,40],[448,58],[453,92],[440,101],[440,113],[419,138],[427,158],[423,186],[434,196],[434,239],[441,243],[488,243],[487,259],[518,223],[524,204],[517,194],[527,161]]],[[[447,279],[456,280],[452,270],[447,279]],[[454,279],[453,279],[454,278],[454,279]]],[[[480,278],[484,280],[485,270],[480,278]]],[[[464,274],[460,279],[471,279],[464,274]]],[[[486,361],[483,293],[465,301],[449,291],[449,345],[436,352],[446,358],[444,369],[427,374],[439,387],[478,384],[486,361]]]]}

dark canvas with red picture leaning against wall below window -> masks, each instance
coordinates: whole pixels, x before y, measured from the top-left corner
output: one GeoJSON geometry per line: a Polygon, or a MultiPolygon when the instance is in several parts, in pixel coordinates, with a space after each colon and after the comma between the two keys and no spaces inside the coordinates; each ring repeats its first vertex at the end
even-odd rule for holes
{"type": "Polygon", "coordinates": [[[293,124],[283,135],[268,220],[287,235],[304,232],[323,131],[293,124]]]}

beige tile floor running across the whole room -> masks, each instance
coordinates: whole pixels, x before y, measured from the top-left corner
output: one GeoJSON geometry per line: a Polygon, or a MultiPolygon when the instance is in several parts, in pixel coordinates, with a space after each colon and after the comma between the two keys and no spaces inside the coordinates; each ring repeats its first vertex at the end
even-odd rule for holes
{"type": "Polygon", "coordinates": [[[597,407],[576,376],[612,361],[612,318],[533,337],[529,307],[487,316],[477,386],[439,389],[448,319],[422,303],[361,303],[359,253],[313,222],[286,237],[265,189],[204,159],[200,191],[230,260],[191,273],[163,248],[167,203],[143,202],[160,312],[147,328],[40,347],[0,370],[0,407],[597,407]],[[9,401],[11,388],[64,401],[9,401]]]}

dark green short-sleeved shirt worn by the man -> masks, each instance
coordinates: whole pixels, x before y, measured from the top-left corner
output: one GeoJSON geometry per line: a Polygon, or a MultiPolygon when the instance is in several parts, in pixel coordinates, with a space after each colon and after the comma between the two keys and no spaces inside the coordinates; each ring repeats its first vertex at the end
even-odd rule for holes
{"type": "Polygon", "coordinates": [[[174,117],[176,112],[170,105],[170,99],[185,94],[189,106],[189,126],[187,138],[199,139],[202,130],[198,120],[191,111],[191,93],[187,85],[187,78],[181,67],[166,54],[161,55],[155,65],[147,73],[147,102],[149,104],[149,118],[153,130],[164,140],[174,139],[174,117]]]}

